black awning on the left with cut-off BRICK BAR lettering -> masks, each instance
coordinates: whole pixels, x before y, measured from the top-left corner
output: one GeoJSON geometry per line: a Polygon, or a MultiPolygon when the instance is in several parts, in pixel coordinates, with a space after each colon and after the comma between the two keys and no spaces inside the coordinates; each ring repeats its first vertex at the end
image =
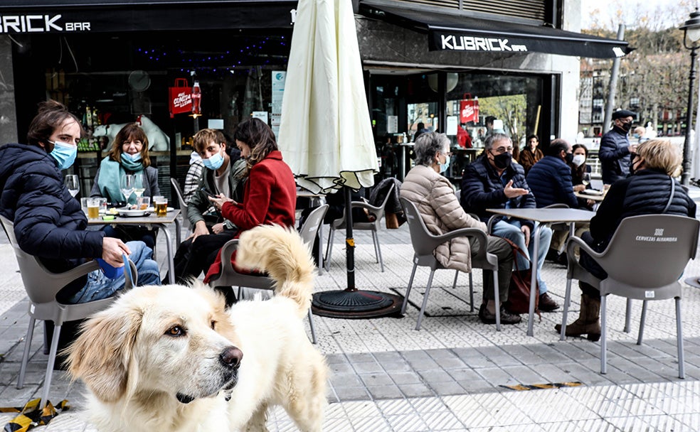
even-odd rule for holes
{"type": "Polygon", "coordinates": [[[0,34],[292,28],[297,1],[4,0],[0,34]]]}

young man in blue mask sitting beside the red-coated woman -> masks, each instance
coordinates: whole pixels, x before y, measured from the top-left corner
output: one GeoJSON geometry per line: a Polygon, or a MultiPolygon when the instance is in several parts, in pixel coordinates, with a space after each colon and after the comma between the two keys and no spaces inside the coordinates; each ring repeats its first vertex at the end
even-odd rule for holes
{"type": "Polygon", "coordinates": [[[187,205],[193,233],[182,242],[174,258],[175,278],[179,282],[206,273],[218,250],[237,232],[235,226],[211,205],[208,196],[224,195],[243,201],[245,159],[240,157],[238,148],[228,148],[226,136],[216,129],[198,131],[193,138],[193,147],[201,156],[204,168],[198,188],[187,205]]]}

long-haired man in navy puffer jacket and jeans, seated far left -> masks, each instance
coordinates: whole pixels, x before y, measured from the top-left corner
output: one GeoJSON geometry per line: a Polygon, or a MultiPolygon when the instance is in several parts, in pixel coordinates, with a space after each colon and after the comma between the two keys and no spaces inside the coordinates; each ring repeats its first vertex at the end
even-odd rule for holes
{"type": "MultiPolygon", "coordinates": [[[[0,164],[0,214],[14,222],[19,247],[38,257],[49,271],[62,273],[95,258],[121,267],[122,254],[127,254],[137,266],[139,284],[160,284],[158,263],[143,242],[124,243],[105,237],[102,231],[85,230],[88,219],[80,201],[63,185],[61,173],[75,161],[82,134],[80,121],[63,104],[42,102],[29,125],[28,144],[0,147],[0,161],[4,161],[0,164]]],[[[110,279],[95,270],[65,286],[56,297],[62,303],[85,303],[113,296],[122,288],[123,275],[110,279]]],[[[70,323],[63,327],[59,347],[70,340],[70,323]]]]}

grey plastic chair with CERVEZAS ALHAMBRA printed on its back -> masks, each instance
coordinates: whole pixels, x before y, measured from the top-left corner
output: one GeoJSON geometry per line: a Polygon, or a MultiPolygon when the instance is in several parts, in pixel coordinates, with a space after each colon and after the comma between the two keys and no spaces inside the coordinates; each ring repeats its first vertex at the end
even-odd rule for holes
{"type": "Polygon", "coordinates": [[[571,280],[587,282],[600,289],[600,373],[607,372],[607,298],[609,294],[627,298],[625,321],[630,316],[631,299],[642,300],[642,316],[637,345],[642,344],[647,302],[676,301],[676,331],[678,345],[678,377],[685,377],[683,333],[681,321],[682,286],[679,278],[688,261],[695,258],[700,222],[691,217],[674,215],[642,215],[626,217],[620,222],[610,244],[603,252],[595,252],[579,237],[567,244],[568,270],[566,300],[561,321],[561,340],[566,335],[568,304],[571,300],[571,280]],[[574,258],[573,250],[580,247],[608,273],[602,281],[590,274],[574,258]]]}

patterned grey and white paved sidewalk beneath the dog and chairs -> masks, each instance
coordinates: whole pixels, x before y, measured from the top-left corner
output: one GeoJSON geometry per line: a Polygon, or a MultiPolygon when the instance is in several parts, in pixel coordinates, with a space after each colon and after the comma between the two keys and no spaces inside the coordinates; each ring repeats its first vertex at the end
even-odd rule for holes
{"type": "MultiPolygon", "coordinates": [[[[163,237],[163,236],[160,236],[163,237]]],[[[331,271],[317,277],[317,291],[346,287],[344,239],[336,236],[331,271]]],[[[405,293],[413,249],[408,228],[383,230],[385,271],[373,257],[371,236],[356,233],[356,285],[405,293]]],[[[159,239],[159,241],[163,241],[159,239]]],[[[163,259],[164,254],[160,254],[163,259]]],[[[18,406],[41,391],[46,355],[43,325],[36,328],[27,384],[15,389],[26,333],[26,297],[16,261],[4,236],[0,281],[0,406],[18,406]]],[[[700,275],[692,261],[686,275],[700,275]]],[[[641,302],[632,332],[623,333],[625,302],[609,303],[608,374],[600,370],[600,344],[553,330],[561,312],[536,318],[534,337],[526,320],[497,332],[470,311],[467,275],[452,290],[452,271],[437,271],[423,327],[415,331],[428,271],[418,269],[404,318],[344,320],[314,316],[318,347],[333,374],[326,431],[696,431],[700,430],[700,290],[683,298],[686,379],[677,377],[674,304],[649,303],[645,342],[636,345],[641,302]],[[514,384],[581,382],[580,387],[514,391],[514,384]]],[[[546,263],[543,277],[561,303],[566,271],[546,263]]],[[[481,301],[481,273],[474,271],[474,301],[481,301]]],[[[571,314],[578,315],[578,288],[571,314]]],[[[639,303],[639,304],[636,304],[639,303]]],[[[572,318],[573,319],[573,318],[572,318]]],[[[93,431],[82,419],[84,388],[54,375],[50,399],[67,398],[71,411],[36,431],[93,431]]],[[[4,424],[11,415],[0,415],[4,424]]],[[[270,431],[293,431],[283,411],[270,417],[270,431]]]]}

